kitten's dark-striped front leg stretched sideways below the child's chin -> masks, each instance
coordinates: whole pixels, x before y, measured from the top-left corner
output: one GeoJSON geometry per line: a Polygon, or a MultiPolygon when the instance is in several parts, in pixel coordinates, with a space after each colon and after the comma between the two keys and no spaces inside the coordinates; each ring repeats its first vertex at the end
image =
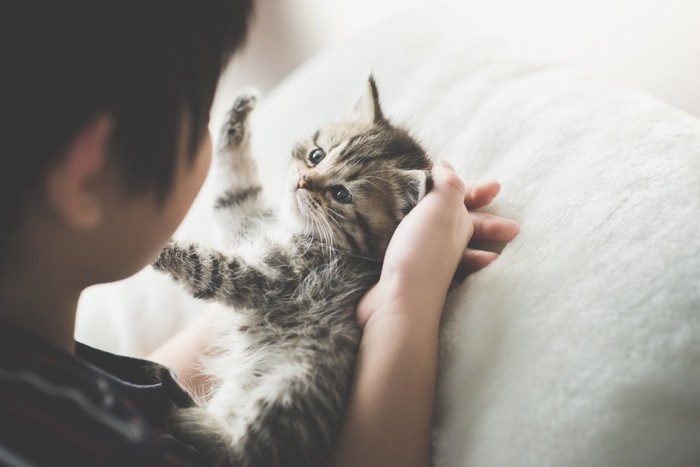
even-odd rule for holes
{"type": "Polygon", "coordinates": [[[153,263],[168,272],[195,297],[216,300],[234,307],[264,311],[270,293],[283,282],[299,280],[286,268],[250,264],[238,255],[225,255],[196,244],[168,243],[153,263]]]}

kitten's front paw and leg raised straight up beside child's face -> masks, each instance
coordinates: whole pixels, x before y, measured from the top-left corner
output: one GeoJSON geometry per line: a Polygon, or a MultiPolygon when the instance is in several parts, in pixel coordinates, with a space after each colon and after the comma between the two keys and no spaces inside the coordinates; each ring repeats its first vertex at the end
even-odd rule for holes
{"type": "Polygon", "coordinates": [[[250,151],[249,116],[258,94],[236,98],[219,132],[214,170],[217,186],[214,210],[227,235],[242,233],[251,217],[266,212],[262,186],[250,151]]]}

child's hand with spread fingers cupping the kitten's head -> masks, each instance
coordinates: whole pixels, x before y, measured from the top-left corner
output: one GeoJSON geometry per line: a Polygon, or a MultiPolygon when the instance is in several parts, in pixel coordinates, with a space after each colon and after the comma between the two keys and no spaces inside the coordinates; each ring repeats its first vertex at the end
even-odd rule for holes
{"type": "Polygon", "coordinates": [[[464,277],[498,257],[466,248],[468,242],[504,242],[518,234],[514,221],[467,211],[489,204],[500,190],[498,182],[465,186],[449,164],[435,166],[433,178],[433,189],[394,232],[379,283],[358,305],[357,320],[362,326],[375,315],[405,309],[396,305],[407,299],[414,305],[411,309],[426,310],[421,320],[427,318],[436,325],[455,272],[464,277]]]}

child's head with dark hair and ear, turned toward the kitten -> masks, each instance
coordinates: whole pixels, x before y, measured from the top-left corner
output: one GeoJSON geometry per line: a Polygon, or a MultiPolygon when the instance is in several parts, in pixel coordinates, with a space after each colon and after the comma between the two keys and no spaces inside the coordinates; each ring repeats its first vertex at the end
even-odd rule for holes
{"type": "Polygon", "coordinates": [[[95,235],[112,235],[115,257],[132,257],[95,280],[134,272],[126,263],[146,251],[127,250],[149,232],[123,230],[173,198],[186,206],[160,213],[152,241],[167,239],[201,185],[197,149],[252,0],[12,3],[0,15],[0,265],[58,226],[56,245],[75,233],[90,254],[95,235]]]}

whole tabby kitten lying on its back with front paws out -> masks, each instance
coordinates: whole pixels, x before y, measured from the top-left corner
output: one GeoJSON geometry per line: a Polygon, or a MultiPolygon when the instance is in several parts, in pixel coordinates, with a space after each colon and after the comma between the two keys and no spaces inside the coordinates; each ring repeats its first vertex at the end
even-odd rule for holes
{"type": "Polygon", "coordinates": [[[292,150],[278,211],[265,209],[239,97],[216,163],[215,209],[230,251],[170,243],[154,263],[195,297],[233,308],[199,407],[173,415],[176,437],[211,465],[321,466],[339,433],[360,329],[355,306],[379,278],[399,221],[432,185],[421,146],[384,117],[367,83],[362,109],[292,150]]]}

